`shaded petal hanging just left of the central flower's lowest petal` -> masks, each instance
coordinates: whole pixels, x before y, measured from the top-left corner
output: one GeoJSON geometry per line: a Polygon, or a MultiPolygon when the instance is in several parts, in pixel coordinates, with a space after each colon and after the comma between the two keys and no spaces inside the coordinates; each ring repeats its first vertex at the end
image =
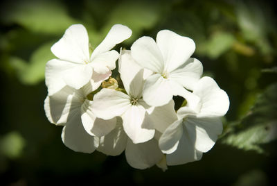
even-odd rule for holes
{"type": "Polygon", "coordinates": [[[117,118],[116,128],[111,133],[100,137],[97,151],[106,155],[120,155],[125,150],[127,135],[123,130],[122,119],[117,118]]]}

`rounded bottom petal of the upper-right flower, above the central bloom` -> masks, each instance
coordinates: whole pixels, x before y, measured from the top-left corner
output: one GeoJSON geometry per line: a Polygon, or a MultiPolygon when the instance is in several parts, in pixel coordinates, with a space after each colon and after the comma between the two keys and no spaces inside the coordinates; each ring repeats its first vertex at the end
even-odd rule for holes
{"type": "Polygon", "coordinates": [[[145,81],[143,99],[148,105],[166,105],[172,99],[172,96],[170,83],[161,74],[153,74],[145,81]]]}

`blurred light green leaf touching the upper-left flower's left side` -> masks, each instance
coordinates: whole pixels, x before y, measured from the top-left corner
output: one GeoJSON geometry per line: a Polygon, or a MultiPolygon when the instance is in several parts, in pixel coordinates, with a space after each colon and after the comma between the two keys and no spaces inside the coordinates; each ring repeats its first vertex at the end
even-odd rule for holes
{"type": "Polygon", "coordinates": [[[35,85],[44,80],[45,65],[48,60],[55,58],[51,53],[53,42],[46,43],[35,50],[30,57],[30,62],[13,57],[10,64],[17,71],[19,80],[26,85],[35,85]]]}

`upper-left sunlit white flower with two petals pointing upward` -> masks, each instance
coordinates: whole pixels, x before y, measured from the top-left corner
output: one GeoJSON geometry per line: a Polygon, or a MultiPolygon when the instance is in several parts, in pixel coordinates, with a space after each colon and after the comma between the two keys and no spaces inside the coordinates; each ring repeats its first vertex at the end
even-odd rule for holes
{"type": "Polygon", "coordinates": [[[131,34],[132,31],[127,26],[112,26],[105,39],[89,56],[86,28],[82,24],[70,26],[63,37],[51,47],[51,51],[59,59],[50,60],[46,64],[45,81],[48,94],[55,94],[65,85],[80,89],[91,78],[93,83],[96,83],[93,86],[99,87],[98,82],[110,76],[111,70],[116,67],[115,62],[119,54],[111,49],[131,34]]]}

